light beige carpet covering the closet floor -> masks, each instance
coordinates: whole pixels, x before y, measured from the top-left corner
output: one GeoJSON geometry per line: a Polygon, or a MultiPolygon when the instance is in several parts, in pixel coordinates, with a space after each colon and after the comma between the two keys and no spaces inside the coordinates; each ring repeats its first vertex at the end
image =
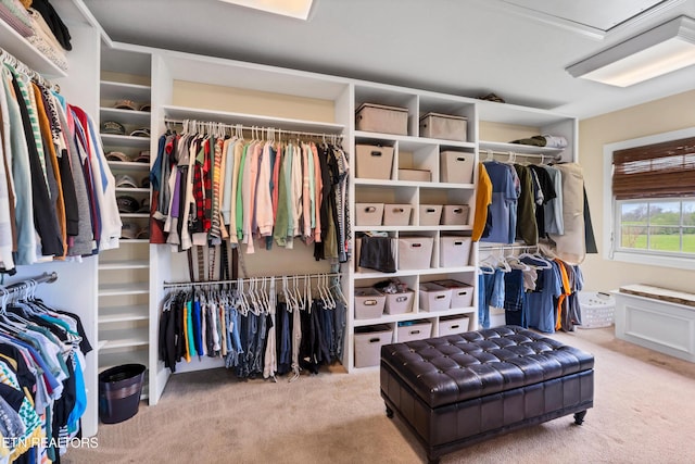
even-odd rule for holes
{"type": "MultiPolygon", "coordinates": [[[[555,334],[595,355],[594,407],[463,449],[442,463],[693,463],[695,364],[635,347],[612,328],[555,334]]],[[[100,425],[73,463],[419,463],[384,414],[378,371],[239,381],[224,369],[175,375],[160,404],[100,425]]]]}

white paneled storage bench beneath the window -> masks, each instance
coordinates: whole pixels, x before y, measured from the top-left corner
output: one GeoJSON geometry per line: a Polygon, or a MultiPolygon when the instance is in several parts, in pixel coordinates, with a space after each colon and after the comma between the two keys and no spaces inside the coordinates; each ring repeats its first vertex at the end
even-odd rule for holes
{"type": "Polygon", "coordinates": [[[628,285],[616,297],[616,337],[695,362],[695,294],[628,285]]]}

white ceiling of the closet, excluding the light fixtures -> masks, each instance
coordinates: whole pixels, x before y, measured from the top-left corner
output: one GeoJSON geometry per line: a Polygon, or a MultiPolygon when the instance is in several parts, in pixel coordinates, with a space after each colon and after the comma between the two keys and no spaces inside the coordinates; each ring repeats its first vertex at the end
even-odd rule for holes
{"type": "Polygon", "coordinates": [[[314,0],[307,22],[218,0],[84,2],[114,41],[467,97],[494,92],[580,118],[695,89],[695,66],[628,88],[565,71],[672,17],[695,17],[695,0],[314,0]]]}

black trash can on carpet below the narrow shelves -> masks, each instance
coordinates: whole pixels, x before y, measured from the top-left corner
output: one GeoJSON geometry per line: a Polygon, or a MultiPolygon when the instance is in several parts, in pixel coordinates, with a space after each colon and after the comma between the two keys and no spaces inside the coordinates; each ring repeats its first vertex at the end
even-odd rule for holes
{"type": "Polygon", "coordinates": [[[99,374],[99,418],[117,424],[138,413],[146,366],[124,364],[99,374]]]}

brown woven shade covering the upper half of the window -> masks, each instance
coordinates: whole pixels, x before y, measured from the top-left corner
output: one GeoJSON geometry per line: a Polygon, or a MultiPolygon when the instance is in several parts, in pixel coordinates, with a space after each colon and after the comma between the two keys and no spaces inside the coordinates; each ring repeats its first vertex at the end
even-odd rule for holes
{"type": "Polygon", "coordinates": [[[617,150],[612,165],[618,200],[695,196],[695,137],[617,150]]]}

